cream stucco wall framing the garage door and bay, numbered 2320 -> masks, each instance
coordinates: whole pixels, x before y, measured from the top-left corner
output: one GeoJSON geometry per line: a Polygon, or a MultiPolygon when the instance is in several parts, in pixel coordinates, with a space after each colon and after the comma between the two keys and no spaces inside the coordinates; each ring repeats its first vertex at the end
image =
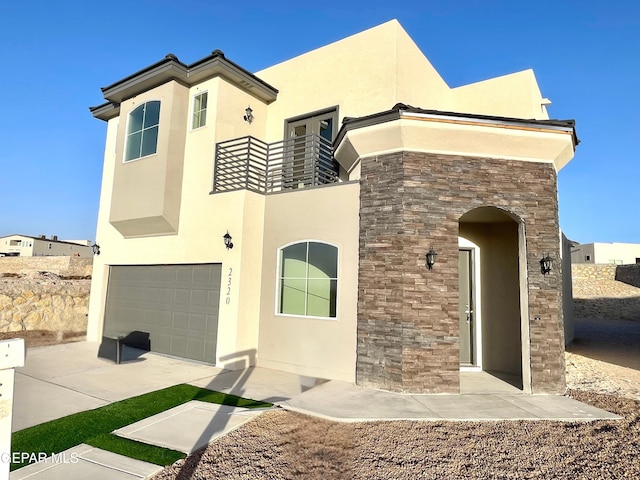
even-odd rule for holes
{"type": "MultiPolygon", "coordinates": [[[[211,79],[199,88],[206,88],[209,92],[207,125],[197,130],[187,129],[187,125],[190,126],[187,114],[180,125],[185,130],[184,153],[177,157],[182,163],[182,187],[178,203],[180,221],[177,231],[172,235],[124,238],[109,222],[109,207],[117,193],[112,189],[113,172],[121,162],[121,156],[115,148],[116,138],[118,131],[121,134],[123,131],[118,125],[122,121],[119,122],[117,118],[109,121],[96,235],[101,254],[94,259],[87,336],[90,340],[98,341],[102,335],[109,265],[221,263],[223,286],[231,278],[229,300],[227,288],[220,292],[217,353],[218,364],[223,366],[236,362],[239,357],[253,355],[252,358],[255,358],[260,291],[260,277],[255,269],[262,257],[262,235],[259,232],[263,229],[264,197],[246,191],[210,194],[214,139],[218,129],[242,136],[250,133],[252,128],[259,128],[259,123],[256,125],[254,122],[250,126],[244,122],[242,115],[249,101],[252,102],[252,108],[259,111],[260,107],[254,103],[252,96],[229,88],[228,82],[221,79],[211,79]],[[219,102],[242,108],[236,112],[227,107],[228,115],[216,117],[216,105],[219,102]],[[233,236],[232,250],[227,250],[222,240],[227,231],[233,236]]],[[[194,87],[189,95],[183,95],[184,105],[180,108],[185,111],[190,108],[187,104],[191,103],[193,94],[198,91],[194,87]]],[[[149,98],[156,95],[151,92],[149,98]]],[[[145,161],[151,163],[154,159],[138,160],[140,163],[145,161]]],[[[158,168],[161,170],[163,166],[159,165],[158,168]]]]}

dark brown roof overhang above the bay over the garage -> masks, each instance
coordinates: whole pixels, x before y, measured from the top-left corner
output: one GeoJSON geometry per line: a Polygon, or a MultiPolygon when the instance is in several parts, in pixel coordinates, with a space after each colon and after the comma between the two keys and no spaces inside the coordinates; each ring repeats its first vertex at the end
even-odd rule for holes
{"type": "Polygon", "coordinates": [[[189,87],[213,77],[223,77],[267,104],[273,102],[278,95],[277,89],[227,60],[220,50],[215,50],[208,57],[191,65],[186,65],[175,55],[169,54],[161,61],[102,88],[107,102],[90,107],[89,110],[94,117],[109,120],[119,115],[122,101],[166,82],[175,80],[189,87]]]}

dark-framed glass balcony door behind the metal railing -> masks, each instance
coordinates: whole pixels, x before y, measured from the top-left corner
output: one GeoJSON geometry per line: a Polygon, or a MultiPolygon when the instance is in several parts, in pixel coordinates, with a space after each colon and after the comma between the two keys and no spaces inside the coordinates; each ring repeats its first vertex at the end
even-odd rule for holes
{"type": "Polygon", "coordinates": [[[331,144],[337,133],[336,109],[287,120],[283,187],[329,183],[337,176],[331,144]]]}

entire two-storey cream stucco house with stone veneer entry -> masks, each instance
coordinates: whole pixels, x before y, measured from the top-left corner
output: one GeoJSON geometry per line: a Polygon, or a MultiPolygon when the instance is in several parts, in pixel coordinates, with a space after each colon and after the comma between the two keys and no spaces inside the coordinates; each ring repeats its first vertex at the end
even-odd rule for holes
{"type": "Polygon", "coordinates": [[[461,369],[564,391],[577,138],[531,70],[450,88],[390,21],[255,73],[167,55],[102,92],[89,339],[391,391],[455,393],[461,369]]]}

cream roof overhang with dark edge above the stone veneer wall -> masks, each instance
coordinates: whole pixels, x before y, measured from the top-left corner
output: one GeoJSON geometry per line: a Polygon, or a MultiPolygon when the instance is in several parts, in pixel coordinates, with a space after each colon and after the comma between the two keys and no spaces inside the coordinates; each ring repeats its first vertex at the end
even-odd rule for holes
{"type": "Polygon", "coordinates": [[[397,151],[553,163],[557,171],[578,144],[573,120],[529,120],[396,105],[392,110],[345,119],[335,157],[351,171],[360,158],[397,151]]]}

